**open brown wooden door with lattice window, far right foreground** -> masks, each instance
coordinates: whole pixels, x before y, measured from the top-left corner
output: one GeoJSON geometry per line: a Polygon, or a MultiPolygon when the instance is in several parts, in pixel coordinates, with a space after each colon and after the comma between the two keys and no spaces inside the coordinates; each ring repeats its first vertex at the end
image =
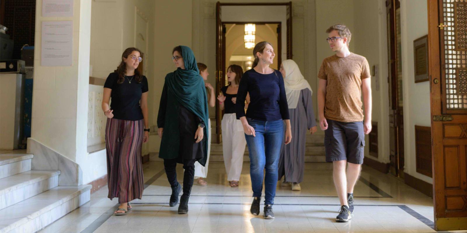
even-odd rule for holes
{"type": "Polygon", "coordinates": [[[467,0],[428,0],[435,229],[467,229],[467,0]]]}

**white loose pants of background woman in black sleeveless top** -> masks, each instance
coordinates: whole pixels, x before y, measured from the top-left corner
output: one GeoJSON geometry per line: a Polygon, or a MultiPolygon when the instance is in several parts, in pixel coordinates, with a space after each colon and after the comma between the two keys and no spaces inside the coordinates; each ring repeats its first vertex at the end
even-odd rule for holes
{"type": "Polygon", "coordinates": [[[240,120],[235,113],[224,114],[222,118],[222,151],[226,165],[227,180],[240,180],[243,154],[247,141],[240,120]]]}

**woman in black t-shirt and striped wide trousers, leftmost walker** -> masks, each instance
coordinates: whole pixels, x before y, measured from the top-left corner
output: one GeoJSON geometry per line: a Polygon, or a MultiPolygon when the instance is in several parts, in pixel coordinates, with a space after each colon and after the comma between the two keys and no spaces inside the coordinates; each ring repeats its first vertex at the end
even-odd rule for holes
{"type": "Polygon", "coordinates": [[[148,141],[149,122],[148,79],[137,70],[141,61],[139,49],[125,49],[104,84],[108,198],[117,197],[120,204],[115,215],[127,214],[132,207],[128,202],[141,199],[143,193],[141,147],[148,141]]]}

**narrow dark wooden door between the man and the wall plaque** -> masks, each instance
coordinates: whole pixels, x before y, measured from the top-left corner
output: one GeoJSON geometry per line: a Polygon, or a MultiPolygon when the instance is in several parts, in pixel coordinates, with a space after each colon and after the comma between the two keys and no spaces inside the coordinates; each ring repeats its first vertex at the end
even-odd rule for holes
{"type": "Polygon", "coordinates": [[[389,159],[391,174],[403,178],[403,92],[399,0],[386,0],[389,82],[389,159]]]}

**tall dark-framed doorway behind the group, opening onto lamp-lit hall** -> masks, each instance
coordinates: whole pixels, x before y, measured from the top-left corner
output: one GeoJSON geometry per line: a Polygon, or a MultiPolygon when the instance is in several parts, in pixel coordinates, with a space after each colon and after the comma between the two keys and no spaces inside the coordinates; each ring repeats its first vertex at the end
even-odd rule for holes
{"type": "MultiPolygon", "coordinates": [[[[244,25],[253,23],[258,27],[259,31],[264,32],[267,38],[275,34],[274,41],[277,43],[274,47],[276,50],[277,62],[272,65],[272,68],[278,69],[283,58],[292,59],[292,2],[286,3],[216,3],[216,96],[219,95],[220,89],[226,84],[226,68],[229,64],[239,63],[247,69],[246,62],[249,62],[248,55],[253,55],[253,50],[250,48],[248,53],[244,49],[239,49],[238,53],[230,54],[230,50],[226,47],[226,35],[228,32],[234,34],[235,31],[243,31],[244,25]],[[264,12],[264,14],[261,14],[264,12]],[[240,30],[243,29],[243,30],[240,30]],[[230,31],[229,31],[230,30],[230,31]],[[285,49],[284,49],[285,48],[285,49]],[[245,53],[245,54],[242,54],[245,53]],[[232,55],[239,55],[232,57],[232,55]],[[231,61],[231,59],[233,59],[231,61]],[[246,60],[246,61],[234,61],[246,60]],[[232,63],[231,63],[232,62],[232,63]]],[[[258,32],[259,32],[258,31],[258,32]]],[[[265,36],[266,37],[266,36],[265,36]]],[[[243,34],[241,35],[243,38],[243,34]]],[[[262,41],[258,34],[258,40],[255,43],[262,41]]],[[[238,39],[238,36],[237,36],[238,39]]],[[[240,41],[237,40],[237,44],[240,41]]],[[[251,60],[253,61],[253,60],[251,60]]],[[[220,110],[219,105],[216,105],[216,142],[220,143],[222,140],[222,132],[220,129],[220,122],[223,112],[220,110]]]]}

